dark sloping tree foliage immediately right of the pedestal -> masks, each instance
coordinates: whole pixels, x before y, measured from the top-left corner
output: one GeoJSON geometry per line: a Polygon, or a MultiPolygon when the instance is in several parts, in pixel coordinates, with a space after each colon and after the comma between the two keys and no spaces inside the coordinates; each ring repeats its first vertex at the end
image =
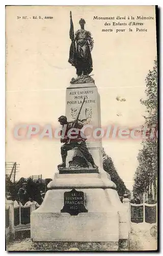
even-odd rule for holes
{"type": "Polygon", "coordinates": [[[125,191],[128,191],[128,189],[126,188],[123,180],[119,177],[112,158],[108,157],[104,152],[104,148],[102,149],[102,161],[103,161],[103,169],[105,170],[106,173],[110,174],[111,180],[117,186],[118,195],[123,196],[125,191]]]}

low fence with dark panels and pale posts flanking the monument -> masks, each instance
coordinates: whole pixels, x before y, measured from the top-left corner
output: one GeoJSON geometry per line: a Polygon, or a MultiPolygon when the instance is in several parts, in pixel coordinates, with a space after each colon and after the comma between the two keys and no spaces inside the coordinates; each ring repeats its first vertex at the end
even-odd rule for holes
{"type": "MultiPolygon", "coordinates": [[[[132,204],[128,198],[123,199],[123,204],[128,208],[127,223],[130,230],[130,223],[157,223],[157,203],[155,204],[132,204]]],[[[39,208],[38,203],[31,202],[27,206],[17,205],[14,202],[6,201],[6,237],[15,238],[15,231],[28,230],[31,228],[31,212],[39,208]]]]}

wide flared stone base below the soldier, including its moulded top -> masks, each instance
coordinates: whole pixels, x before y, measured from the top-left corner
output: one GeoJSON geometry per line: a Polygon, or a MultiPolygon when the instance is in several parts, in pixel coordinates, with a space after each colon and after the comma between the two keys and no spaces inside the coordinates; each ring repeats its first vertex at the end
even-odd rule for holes
{"type": "MultiPolygon", "coordinates": [[[[100,178],[97,173],[56,174],[48,188],[41,206],[31,212],[31,238],[34,242],[88,245],[96,242],[108,245],[107,249],[101,250],[111,250],[111,244],[118,248],[119,239],[128,239],[127,211],[110,179],[100,178]],[[82,204],[88,212],[79,211],[77,216],[62,212],[65,194],[72,193],[72,189],[83,193],[82,204]]],[[[77,207],[76,202],[73,207],[77,207]]]]}

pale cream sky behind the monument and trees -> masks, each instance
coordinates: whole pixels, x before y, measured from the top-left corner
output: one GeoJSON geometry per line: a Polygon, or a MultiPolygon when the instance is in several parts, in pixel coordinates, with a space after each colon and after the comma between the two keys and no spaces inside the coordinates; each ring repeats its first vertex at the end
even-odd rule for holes
{"type": "MultiPolygon", "coordinates": [[[[42,174],[53,178],[61,163],[60,141],[42,139],[17,140],[17,124],[51,124],[58,127],[58,117],[65,114],[66,88],[75,68],[68,63],[69,12],[74,30],[80,18],[94,38],[93,78],[100,94],[101,126],[138,127],[143,124],[145,78],[156,58],[154,20],[144,23],[147,32],[129,32],[128,26],[102,32],[105,20],[94,16],[155,17],[152,6],[8,6],[6,8],[6,162],[20,164],[16,179],[42,174]],[[23,19],[22,15],[28,17],[23,19]],[[52,19],[33,19],[33,16],[52,19]],[[17,16],[21,18],[17,19],[17,16]],[[31,17],[31,18],[30,18],[31,17]],[[126,29],[116,33],[116,29],[126,29]],[[116,98],[125,98],[118,101],[116,98]]],[[[130,21],[130,20],[129,20],[130,21]]],[[[107,21],[108,22],[108,21],[107,21]]],[[[110,22],[110,21],[109,21],[110,22]]],[[[124,23],[124,20],[120,22],[124,23]]],[[[128,23],[127,20],[125,22],[128,23]]],[[[140,27],[139,27],[140,28],[140,27]]],[[[104,150],[114,162],[119,176],[132,189],[133,175],[138,166],[141,140],[105,139],[104,150]]]]}

